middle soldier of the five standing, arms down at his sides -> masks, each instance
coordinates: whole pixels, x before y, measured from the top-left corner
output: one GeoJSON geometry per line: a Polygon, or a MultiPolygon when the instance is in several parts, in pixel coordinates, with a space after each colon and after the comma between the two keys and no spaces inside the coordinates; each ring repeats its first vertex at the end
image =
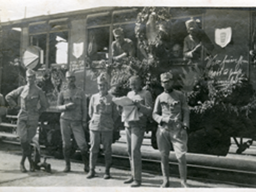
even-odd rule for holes
{"type": "Polygon", "coordinates": [[[101,73],[97,78],[99,93],[92,95],[89,104],[89,116],[91,117],[90,129],[90,172],[87,179],[95,176],[95,166],[100,144],[104,146],[105,154],[105,175],[104,179],[110,179],[110,166],[112,163],[112,137],[114,122],[119,114],[116,105],[112,101],[112,96],[107,91],[108,78],[106,73],[101,73]]]}

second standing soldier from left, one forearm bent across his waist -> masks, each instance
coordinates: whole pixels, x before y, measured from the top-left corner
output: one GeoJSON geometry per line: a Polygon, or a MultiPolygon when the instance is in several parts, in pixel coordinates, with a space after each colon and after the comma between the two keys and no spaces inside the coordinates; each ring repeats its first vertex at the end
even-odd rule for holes
{"type": "Polygon", "coordinates": [[[63,142],[63,155],[66,161],[66,167],[63,172],[71,171],[70,152],[71,152],[71,134],[75,137],[77,146],[81,150],[84,164],[83,170],[88,172],[88,153],[85,139],[87,117],[87,104],[85,93],[75,85],[75,74],[72,71],[66,72],[67,87],[58,95],[57,109],[61,111],[61,135],[63,142]]]}

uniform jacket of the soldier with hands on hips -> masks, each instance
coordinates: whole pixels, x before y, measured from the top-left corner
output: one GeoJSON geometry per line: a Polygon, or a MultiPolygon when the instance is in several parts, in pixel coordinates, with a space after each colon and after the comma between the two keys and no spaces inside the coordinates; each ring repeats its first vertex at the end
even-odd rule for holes
{"type": "Polygon", "coordinates": [[[21,110],[18,118],[21,120],[37,120],[48,107],[45,93],[36,85],[25,85],[13,90],[6,95],[6,100],[11,107],[17,106],[15,100],[21,98],[21,110]],[[38,104],[40,107],[38,107],[38,104]]]}

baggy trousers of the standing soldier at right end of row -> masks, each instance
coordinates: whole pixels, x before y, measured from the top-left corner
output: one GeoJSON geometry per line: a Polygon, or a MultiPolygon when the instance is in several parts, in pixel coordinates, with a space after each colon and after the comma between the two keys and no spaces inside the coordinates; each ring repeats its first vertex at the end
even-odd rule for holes
{"type": "Polygon", "coordinates": [[[157,145],[161,154],[161,169],[164,178],[169,178],[169,154],[171,144],[175,151],[175,155],[179,160],[186,154],[188,135],[182,127],[172,127],[171,129],[163,129],[158,127],[156,132],[157,145]]]}

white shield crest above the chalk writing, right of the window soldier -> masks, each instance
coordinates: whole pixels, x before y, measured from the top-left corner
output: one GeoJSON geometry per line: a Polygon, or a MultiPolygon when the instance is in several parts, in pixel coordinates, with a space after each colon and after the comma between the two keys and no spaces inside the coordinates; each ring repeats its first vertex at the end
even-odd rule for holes
{"type": "Polygon", "coordinates": [[[232,28],[215,29],[215,43],[221,48],[228,45],[232,37],[232,28]]]}

